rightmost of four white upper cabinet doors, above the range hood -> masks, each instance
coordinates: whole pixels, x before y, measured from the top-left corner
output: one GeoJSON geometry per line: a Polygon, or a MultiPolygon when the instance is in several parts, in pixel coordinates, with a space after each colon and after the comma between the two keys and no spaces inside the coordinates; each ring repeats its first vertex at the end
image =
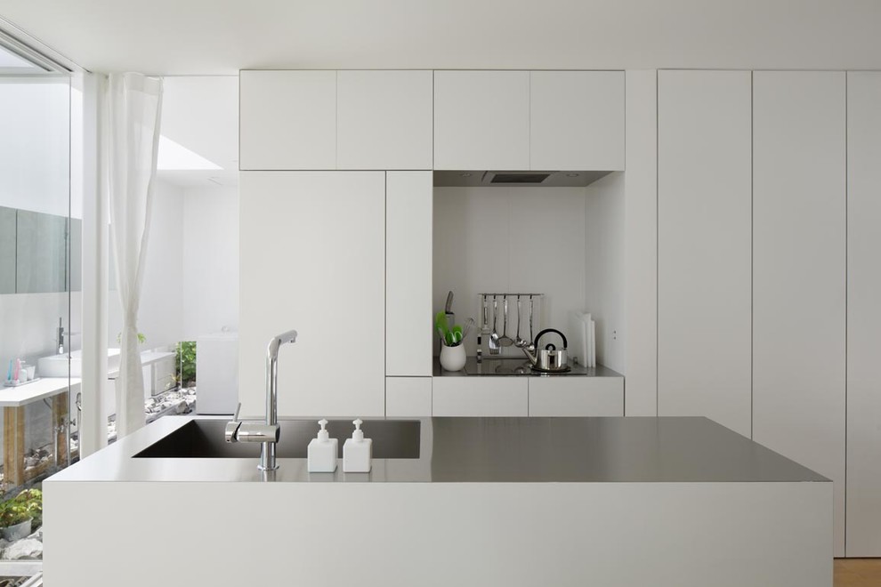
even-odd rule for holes
{"type": "Polygon", "coordinates": [[[623,171],[624,72],[529,76],[529,168],[623,171]]]}

